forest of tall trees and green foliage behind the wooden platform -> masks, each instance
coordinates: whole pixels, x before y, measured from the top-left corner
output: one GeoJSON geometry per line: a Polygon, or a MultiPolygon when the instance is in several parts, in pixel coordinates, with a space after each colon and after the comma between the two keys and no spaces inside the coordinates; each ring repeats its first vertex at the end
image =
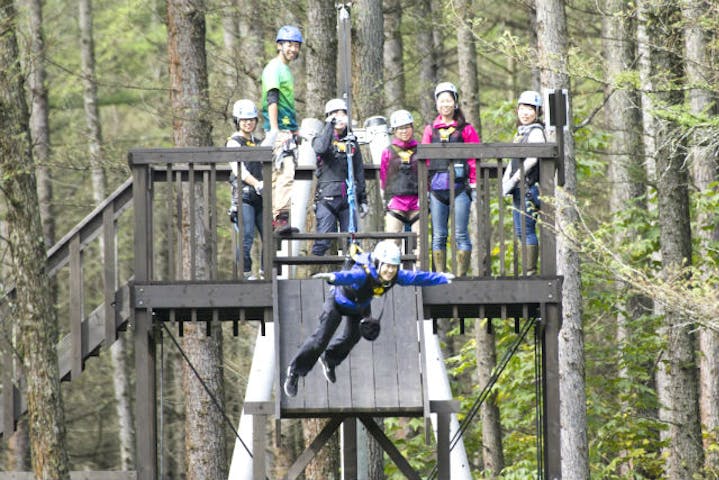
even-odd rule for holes
{"type": "MultiPolygon", "coordinates": [[[[15,5],[50,246],[127,179],[128,149],[177,143],[168,55],[172,8],[137,0],[15,5]],[[46,76],[38,82],[40,66],[46,76]],[[43,95],[44,131],[35,109],[43,95]]],[[[224,145],[232,132],[235,100],[259,101],[260,72],[274,56],[280,25],[298,25],[305,34],[292,65],[300,117],[322,118],[324,102],[341,93],[333,2],[169,5],[202,14],[209,79],[202,115],[213,145],[224,145]]],[[[364,0],[353,4],[352,17],[353,117],[360,122],[406,108],[419,130],[434,116],[434,85],[452,81],[483,141],[511,141],[519,92],[569,90],[571,179],[558,202],[572,213],[559,233],[576,255],[577,274],[565,272],[574,275],[565,283],[565,297],[579,304],[565,304],[562,337],[574,357],[564,357],[562,378],[579,394],[562,397],[563,471],[566,478],[719,475],[719,2],[364,0]],[[545,31],[550,20],[565,22],[566,30],[550,32],[558,34],[557,45],[549,44],[545,31]],[[552,61],[551,52],[561,58],[552,61]],[[547,65],[560,66],[554,80],[544,73],[551,70],[547,65]],[[689,433],[678,435],[680,430],[689,433]]],[[[495,222],[500,207],[509,205],[493,205],[495,222]]],[[[379,222],[379,205],[374,208],[379,222]]],[[[128,222],[124,231],[129,229],[128,222]]],[[[230,224],[220,229],[228,241],[230,224]]],[[[8,245],[0,244],[3,290],[14,283],[8,245]]],[[[120,263],[131,268],[127,257],[121,255],[120,263]]],[[[85,282],[98,275],[86,273],[85,282]]],[[[63,318],[68,296],[58,283],[63,318]]],[[[233,419],[239,418],[252,356],[254,330],[244,328],[224,341],[224,402],[233,419]]],[[[66,330],[61,322],[60,333],[66,330]]],[[[486,332],[477,321],[465,334],[455,329],[444,338],[463,411],[491,372],[482,353],[496,349],[501,356],[516,336],[513,325],[499,322],[489,340],[486,332]]],[[[112,355],[91,360],[80,379],[62,384],[72,470],[132,468],[133,378],[123,375],[132,370],[130,343],[118,342],[112,355]]],[[[179,380],[181,362],[176,351],[168,348],[165,355],[164,470],[166,478],[189,478],[182,455],[187,393],[179,380]]],[[[529,478],[537,470],[533,355],[527,341],[499,379],[481,421],[465,434],[476,478],[529,478]],[[499,433],[493,437],[492,431],[499,433]]],[[[278,470],[301,451],[303,433],[309,437],[317,428],[309,422],[283,428],[285,448],[273,452],[278,470]]],[[[422,422],[388,420],[385,429],[403,438],[400,448],[413,466],[431,469],[422,422]]],[[[29,469],[26,436],[21,424],[18,434],[3,439],[3,470],[29,469]]],[[[228,455],[233,445],[229,432],[228,455]]],[[[327,450],[307,478],[337,478],[336,447],[327,450]]],[[[375,463],[381,468],[371,478],[401,478],[391,462],[375,463]]]]}

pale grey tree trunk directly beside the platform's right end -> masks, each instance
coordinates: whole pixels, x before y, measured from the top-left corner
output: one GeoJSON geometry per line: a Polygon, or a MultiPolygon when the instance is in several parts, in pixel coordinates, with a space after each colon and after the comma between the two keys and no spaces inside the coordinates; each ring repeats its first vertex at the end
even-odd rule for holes
{"type": "MultiPolygon", "coordinates": [[[[537,42],[542,87],[570,91],[568,75],[567,20],[564,2],[537,0],[537,42]]],[[[571,106],[572,96],[569,94],[571,106]]],[[[559,231],[574,231],[578,214],[574,207],[577,171],[574,158],[571,108],[567,118],[563,191],[557,197],[559,231]],[[562,194],[564,193],[564,194],[562,194]]],[[[584,332],[579,252],[571,241],[557,237],[557,271],[564,276],[562,328],[559,333],[560,416],[562,422],[562,474],[565,478],[589,478],[587,404],[584,381],[584,332]]]]}

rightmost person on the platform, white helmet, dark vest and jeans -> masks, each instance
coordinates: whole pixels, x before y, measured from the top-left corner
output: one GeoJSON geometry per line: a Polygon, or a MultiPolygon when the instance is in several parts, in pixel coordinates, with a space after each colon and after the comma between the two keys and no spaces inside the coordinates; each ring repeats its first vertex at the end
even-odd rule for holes
{"type": "MultiPolygon", "coordinates": [[[[522,92],[517,101],[517,134],[514,143],[546,143],[542,125],[542,96],[539,92],[522,92]]],[[[502,177],[502,191],[512,196],[514,231],[522,239],[522,220],[526,227],[527,271],[526,275],[537,273],[539,241],[537,240],[537,215],[539,214],[539,165],[535,157],[513,158],[502,177]],[[520,163],[524,166],[524,199],[520,189],[520,163]]]]}

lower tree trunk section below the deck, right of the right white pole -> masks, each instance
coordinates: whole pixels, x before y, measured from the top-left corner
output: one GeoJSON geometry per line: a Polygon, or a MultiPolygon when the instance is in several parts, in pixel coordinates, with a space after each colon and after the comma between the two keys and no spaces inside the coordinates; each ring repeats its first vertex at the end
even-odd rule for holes
{"type": "MultiPolygon", "coordinates": [[[[487,331],[488,319],[477,321],[475,339],[477,347],[477,383],[484,388],[489,383],[494,368],[497,366],[497,352],[494,335],[487,331]]],[[[485,475],[488,478],[499,478],[504,468],[504,450],[502,448],[502,424],[497,407],[497,393],[493,392],[484,401],[481,408],[482,417],[482,461],[485,475]]]]}

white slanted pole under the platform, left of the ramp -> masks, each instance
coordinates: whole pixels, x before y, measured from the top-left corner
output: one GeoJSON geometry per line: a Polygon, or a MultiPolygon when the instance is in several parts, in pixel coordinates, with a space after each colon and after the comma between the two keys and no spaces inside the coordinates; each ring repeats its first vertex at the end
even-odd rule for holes
{"type": "MultiPolygon", "coordinates": [[[[269,402],[272,399],[272,386],[275,379],[275,330],[271,322],[265,323],[265,335],[261,326],[257,327],[255,352],[252,356],[250,378],[247,380],[245,403],[269,402]]],[[[252,450],[252,415],[242,410],[240,425],[237,427],[240,438],[247,448],[252,450]]],[[[235,439],[235,449],[230,461],[228,480],[252,480],[252,457],[247,453],[239,439],[235,439]]]]}

